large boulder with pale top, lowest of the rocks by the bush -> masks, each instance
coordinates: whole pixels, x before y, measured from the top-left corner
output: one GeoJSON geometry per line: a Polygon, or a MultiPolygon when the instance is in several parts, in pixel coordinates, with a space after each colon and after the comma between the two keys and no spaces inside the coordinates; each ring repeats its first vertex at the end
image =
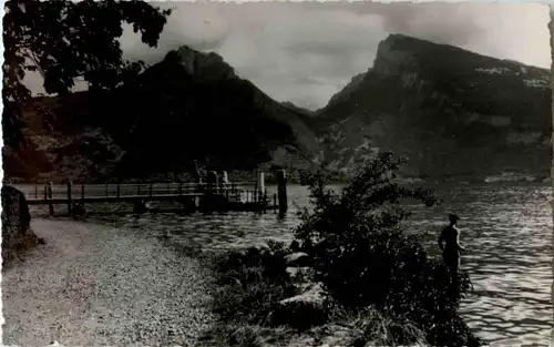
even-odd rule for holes
{"type": "Polygon", "coordinates": [[[325,298],[326,293],[322,286],[315,284],[302,294],[280,300],[279,306],[271,314],[271,322],[299,329],[325,324],[328,318],[325,298]]]}

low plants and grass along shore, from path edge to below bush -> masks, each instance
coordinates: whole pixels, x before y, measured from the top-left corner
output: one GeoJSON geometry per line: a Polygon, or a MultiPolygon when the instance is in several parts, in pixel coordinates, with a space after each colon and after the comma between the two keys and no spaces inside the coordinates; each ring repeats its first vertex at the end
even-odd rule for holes
{"type": "Polygon", "coordinates": [[[252,247],[211,259],[215,277],[212,309],[218,320],[205,333],[201,346],[400,346],[424,341],[424,334],[401,317],[372,307],[346,309],[330,300],[325,306],[326,322],[305,327],[298,327],[295,319],[276,324],[273,316],[279,302],[299,294],[286,272],[285,254],[279,247],[252,247]]]}

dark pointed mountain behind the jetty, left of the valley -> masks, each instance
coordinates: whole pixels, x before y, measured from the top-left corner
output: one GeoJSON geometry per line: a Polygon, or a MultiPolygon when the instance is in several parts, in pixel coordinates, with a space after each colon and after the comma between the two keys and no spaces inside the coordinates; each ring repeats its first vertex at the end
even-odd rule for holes
{"type": "Polygon", "coordinates": [[[51,116],[25,112],[31,154],[4,151],[8,176],[144,178],[189,171],[196,159],[216,170],[289,166],[290,157],[301,163],[319,146],[304,112],[237,76],[219,55],[188,47],[115,91],[37,98],[35,103],[51,116]],[[14,165],[38,156],[50,167],[14,165]]]}

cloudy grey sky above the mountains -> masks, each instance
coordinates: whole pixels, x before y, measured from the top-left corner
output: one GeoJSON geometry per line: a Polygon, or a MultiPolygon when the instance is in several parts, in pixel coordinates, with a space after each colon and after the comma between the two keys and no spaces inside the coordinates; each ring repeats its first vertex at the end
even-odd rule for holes
{"type": "MultiPolygon", "coordinates": [[[[187,44],[214,51],[269,96],[316,110],[403,33],[550,68],[548,8],[532,3],[152,2],[173,13],[156,49],[126,28],[124,57],[148,63],[187,44]]],[[[31,83],[35,84],[35,83],[31,83]]],[[[38,83],[40,84],[40,83],[38,83]]],[[[33,88],[37,90],[37,88],[33,88]]]]}

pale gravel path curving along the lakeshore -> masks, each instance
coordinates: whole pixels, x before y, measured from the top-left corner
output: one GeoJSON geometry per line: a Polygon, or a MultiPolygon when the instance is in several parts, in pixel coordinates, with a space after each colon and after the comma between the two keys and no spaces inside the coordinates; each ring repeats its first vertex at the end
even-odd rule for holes
{"type": "Polygon", "coordinates": [[[197,259],[136,231],[32,227],[47,245],[2,274],[4,345],[193,346],[213,322],[197,259]]]}

